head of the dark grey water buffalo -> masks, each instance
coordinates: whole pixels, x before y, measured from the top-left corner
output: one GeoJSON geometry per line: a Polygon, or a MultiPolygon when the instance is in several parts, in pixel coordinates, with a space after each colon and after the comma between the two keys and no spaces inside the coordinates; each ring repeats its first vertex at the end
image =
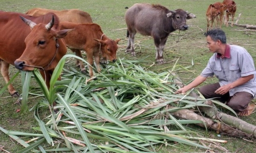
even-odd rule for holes
{"type": "Polygon", "coordinates": [[[192,13],[187,13],[182,9],[177,9],[175,11],[169,11],[166,14],[167,18],[171,18],[172,26],[175,30],[187,30],[188,26],[186,24],[186,19],[195,18],[196,15],[192,13]]]}

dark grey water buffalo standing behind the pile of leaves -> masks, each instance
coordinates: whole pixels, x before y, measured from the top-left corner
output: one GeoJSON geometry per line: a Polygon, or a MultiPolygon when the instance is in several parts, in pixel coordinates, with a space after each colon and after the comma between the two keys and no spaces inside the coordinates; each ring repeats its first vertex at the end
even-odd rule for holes
{"type": "Polygon", "coordinates": [[[163,49],[168,35],[175,30],[187,30],[186,19],[195,17],[181,9],[170,11],[161,5],[134,4],[125,13],[128,37],[125,53],[131,52],[135,56],[134,36],[138,32],[153,36],[157,50],[156,61],[164,63],[163,49]]]}

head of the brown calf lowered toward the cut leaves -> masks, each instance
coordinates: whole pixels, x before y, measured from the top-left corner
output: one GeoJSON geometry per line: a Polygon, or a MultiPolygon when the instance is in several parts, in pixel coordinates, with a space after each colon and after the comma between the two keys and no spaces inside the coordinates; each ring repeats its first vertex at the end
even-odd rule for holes
{"type": "MultiPolygon", "coordinates": [[[[118,42],[121,39],[112,40],[112,39],[106,39],[106,40],[99,40],[94,39],[98,41],[104,49],[101,49],[101,55],[103,59],[108,59],[111,62],[116,61],[116,50],[118,48],[118,42]]],[[[101,48],[102,48],[101,47],[101,48]]]]}

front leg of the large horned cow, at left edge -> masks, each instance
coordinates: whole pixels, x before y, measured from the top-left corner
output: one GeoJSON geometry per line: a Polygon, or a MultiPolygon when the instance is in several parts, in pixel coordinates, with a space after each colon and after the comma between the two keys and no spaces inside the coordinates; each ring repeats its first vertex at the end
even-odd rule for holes
{"type": "MultiPolygon", "coordinates": [[[[3,78],[5,79],[5,82],[8,83],[10,81],[9,77],[9,63],[1,60],[0,68],[1,73],[3,75],[3,78]]],[[[18,97],[18,92],[13,88],[12,84],[8,85],[8,91],[13,97],[18,97]]]]}

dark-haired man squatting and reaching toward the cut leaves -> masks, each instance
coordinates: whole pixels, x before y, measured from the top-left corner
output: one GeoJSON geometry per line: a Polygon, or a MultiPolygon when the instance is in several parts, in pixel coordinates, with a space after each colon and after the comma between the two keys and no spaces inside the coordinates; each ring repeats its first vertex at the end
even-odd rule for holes
{"type": "Polygon", "coordinates": [[[216,98],[226,103],[239,116],[250,115],[256,107],[249,104],[256,93],[256,72],[252,57],[245,48],[226,44],[226,35],[221,29],[208,31],[206,40],[207,47],[214,55],[202,73],[176,93],[185,93],[203,83],[207,77],[216,75],[219,82],[201,87],[200,93],[205,98],[216,98]]]}

